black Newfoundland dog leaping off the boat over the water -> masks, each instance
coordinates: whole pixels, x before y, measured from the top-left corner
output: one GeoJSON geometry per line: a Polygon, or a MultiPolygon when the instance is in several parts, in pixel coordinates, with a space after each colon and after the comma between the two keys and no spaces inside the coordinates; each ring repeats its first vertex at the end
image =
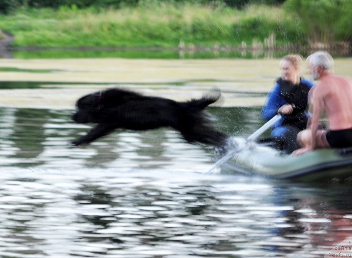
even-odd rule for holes
{"type": "Polygon", "coordinates": [[[172,127],[189,143],[222,146],[227,135],[215,130],[204,112],[220,96],[220,91],[214,91],[200,99],[177,102],[116,88],[92,93],[78,99],[72,119],[79,124],[97,125],[72,144],[88,144],[119,128],[148,130],[172,127]]]}

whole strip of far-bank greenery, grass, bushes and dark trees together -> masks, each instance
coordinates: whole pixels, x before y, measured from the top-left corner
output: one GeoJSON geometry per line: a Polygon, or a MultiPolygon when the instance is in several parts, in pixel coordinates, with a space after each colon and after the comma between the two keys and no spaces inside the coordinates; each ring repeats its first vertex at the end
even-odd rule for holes
{"type": "Polygon", "coordinates": [[[12,33],[15,46],[261,48],[352,41],[352,0],[0,0],[0,12],[7,13],[0,15],[0,38],[1,30],[12,33]]]}

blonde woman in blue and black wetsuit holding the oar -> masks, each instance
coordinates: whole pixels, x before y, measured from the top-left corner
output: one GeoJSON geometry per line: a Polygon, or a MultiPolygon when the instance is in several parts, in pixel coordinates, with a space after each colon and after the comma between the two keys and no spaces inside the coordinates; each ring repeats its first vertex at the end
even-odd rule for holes
{"type": "Polygon", "coordinates": [[[282,76],[276,80],[267,102],[261,110],[264,119],[270,120],[276,114],[283,118],[274,125],[271,136],[283,143],[288,153],[300,146],[297,134],[306,128],[308,113],[308,92],[313,83],[301,77],[302,57],[298,54],[284,56],[280,60],[282,76]]]}

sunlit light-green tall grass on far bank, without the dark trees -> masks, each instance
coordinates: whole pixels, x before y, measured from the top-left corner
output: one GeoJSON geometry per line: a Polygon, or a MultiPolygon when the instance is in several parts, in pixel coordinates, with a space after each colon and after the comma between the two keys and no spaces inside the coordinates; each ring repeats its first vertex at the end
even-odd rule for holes
{"type": "Polygon", "coordinates": [[[146,2],[118,10],[20,9],[0,16],[13,46],[176,47],[303,44],[300,23],[280,7],[146,2]]]}

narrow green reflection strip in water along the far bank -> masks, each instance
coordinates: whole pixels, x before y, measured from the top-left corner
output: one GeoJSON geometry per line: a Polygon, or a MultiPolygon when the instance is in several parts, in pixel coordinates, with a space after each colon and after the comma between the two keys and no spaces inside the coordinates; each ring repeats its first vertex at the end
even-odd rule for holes
{"type": "MultiPolygon", "coordinates": [[[[296,48],[241,48],[241,47],[199,47],[199,48],[11,48],[0,57],[33,58],[147,58],[147,59],[214,59],[214,58],[281,58],[289,53],[303,56],[317,51],[306,47],[296,48]]],[[[350,48],[327,49],[334,57],[350,57],[350,48]]]]}

